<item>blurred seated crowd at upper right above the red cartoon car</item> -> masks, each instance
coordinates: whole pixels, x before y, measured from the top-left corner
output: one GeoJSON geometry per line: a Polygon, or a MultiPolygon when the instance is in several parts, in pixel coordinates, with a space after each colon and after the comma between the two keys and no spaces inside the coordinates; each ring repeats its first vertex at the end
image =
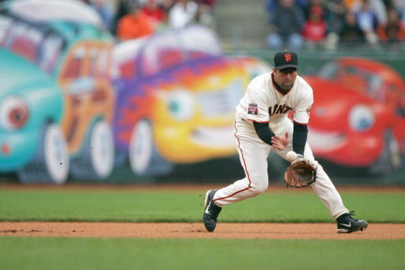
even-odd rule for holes
{"type": "Polygon", "coordinates": [[[270,49],[405,49],[405,0],[268,0],[266,11],[270,49]]]}

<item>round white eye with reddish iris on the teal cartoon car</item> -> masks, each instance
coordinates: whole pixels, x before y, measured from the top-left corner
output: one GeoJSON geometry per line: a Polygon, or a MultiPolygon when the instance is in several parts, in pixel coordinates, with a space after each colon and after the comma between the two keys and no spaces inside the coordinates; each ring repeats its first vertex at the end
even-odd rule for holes
{"type": "Polygon", "coordinates": [[[28,108],[19,97],[9,97],[0,105],[0,126],[7,130],[16,130],[28,120],[28,108]]]}

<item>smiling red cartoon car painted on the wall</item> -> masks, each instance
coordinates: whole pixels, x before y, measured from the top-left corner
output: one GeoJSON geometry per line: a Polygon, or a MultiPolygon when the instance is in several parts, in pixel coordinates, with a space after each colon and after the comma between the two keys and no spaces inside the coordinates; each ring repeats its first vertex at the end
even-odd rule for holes
{"type": "Polygon", "coordinates": [[[387,173],[405,164],[405,83],[385,64],[338,58],[306,79],[314,89],[308,140],[316,156],[387,173]]]}

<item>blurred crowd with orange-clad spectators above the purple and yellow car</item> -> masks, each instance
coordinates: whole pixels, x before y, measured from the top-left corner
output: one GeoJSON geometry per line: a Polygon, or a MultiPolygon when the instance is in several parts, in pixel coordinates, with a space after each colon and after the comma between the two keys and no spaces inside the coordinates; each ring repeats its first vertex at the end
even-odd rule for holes
{"type": "Polygon", "coordinates": [[[94,8],[119,41],[167,28],[203,24],[215,28],[215,0],[82,0],[94,8]],[[111,5],[112,3],[115,4],[111,5]]]}

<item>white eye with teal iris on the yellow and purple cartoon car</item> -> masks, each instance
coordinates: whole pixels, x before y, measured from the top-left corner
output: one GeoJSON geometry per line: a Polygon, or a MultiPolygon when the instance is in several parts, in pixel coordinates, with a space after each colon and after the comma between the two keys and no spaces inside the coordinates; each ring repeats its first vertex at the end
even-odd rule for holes
{"type": "Polygon", "coordinates": [[[194,98],[187,91],[174,92],[168,101],[169,110],[177,120],[188,120],[194,113],[194,98]]]}

